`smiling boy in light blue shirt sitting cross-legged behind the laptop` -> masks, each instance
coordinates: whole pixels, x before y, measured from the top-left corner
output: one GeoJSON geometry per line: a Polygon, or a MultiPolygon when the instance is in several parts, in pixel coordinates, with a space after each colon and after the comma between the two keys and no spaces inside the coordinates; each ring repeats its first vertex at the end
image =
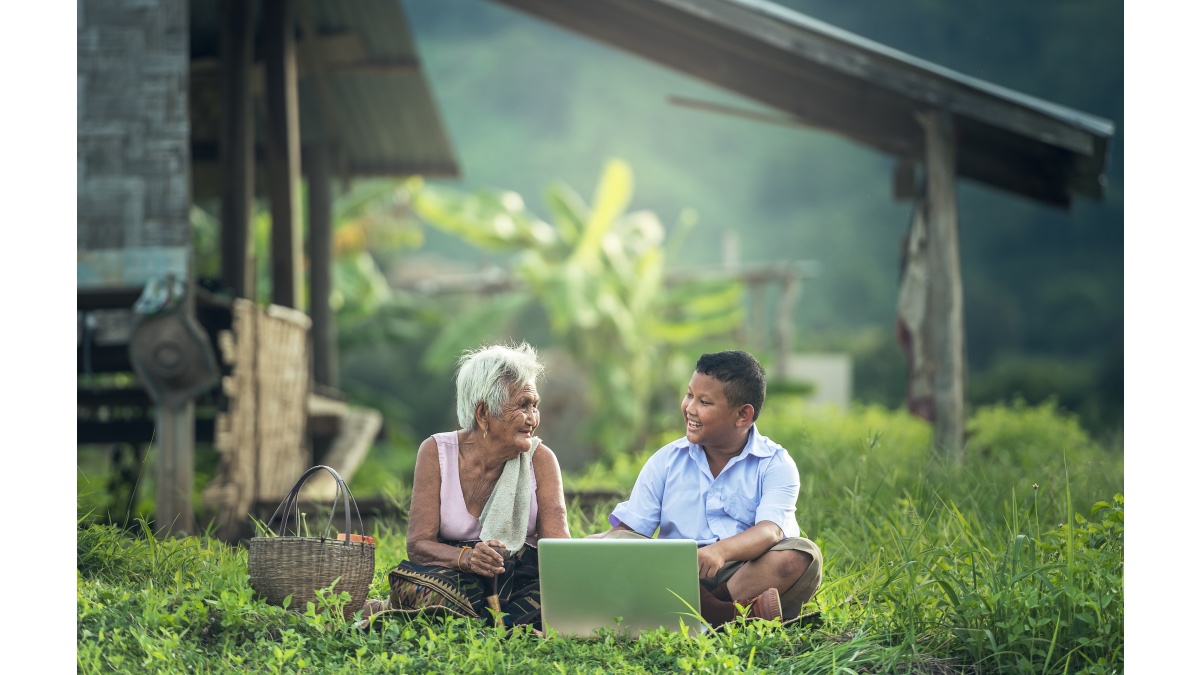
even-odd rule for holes
{"type": "Polygon", "coordinates": [[[752,356],[701,356],[680,406],[686,435],[650,456],[612,528],[590,536],[695,539],[714,628],[738,616],[734,601],[751,617],[794,619],[821,585],[821,551],[796,522],[796,462],[755,426],[766,395],[752,356]]]}

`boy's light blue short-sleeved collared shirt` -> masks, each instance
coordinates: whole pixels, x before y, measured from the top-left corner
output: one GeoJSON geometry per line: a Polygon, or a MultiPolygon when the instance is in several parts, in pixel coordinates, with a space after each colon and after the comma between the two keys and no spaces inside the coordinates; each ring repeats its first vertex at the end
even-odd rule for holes
{"type": "Polygon", "coordinates": [[[704,450],[679,438],[650,455],[629,501],[608,515],[650,537],[707,545],[769,520],[785,537],[799,537],[796,500],[800,473],[782,446],[750,426],[746,446],[713,478],[704,450]]]}

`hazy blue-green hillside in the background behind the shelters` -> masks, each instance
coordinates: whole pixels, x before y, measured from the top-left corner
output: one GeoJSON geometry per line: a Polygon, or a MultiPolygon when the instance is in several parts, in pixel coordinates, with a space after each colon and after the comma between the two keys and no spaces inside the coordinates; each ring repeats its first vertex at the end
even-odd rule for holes
{"type": "MultiPolygon", "coordinates": [[[[784,0],[914,56],[1108,118],[1108,195],[1069,211],[961,181],[968,398],[1057,398],[1094,432],[1123,408],[1123,5],[1115,0],[784,0]]],[[[527,14],[484,0],[406,0],[463,167],[457,186],[534,197],[553,180],[594,185],[610,157],[634,168],[631,209],[698,222],[680,265],[722,259],[736,229],[744,262],[815,259],[821,277],[794,312],[798,350],[851,351],[858,398],[904,396],[892,334],[907,203],[892,162],[848,141],[671,106],[671,95],[762,109],[527,14]]],[[[768,110],[769,112],[769,110],[768,110]]],[[[440,233],[446,265],[497,261],[440,233]]]]}

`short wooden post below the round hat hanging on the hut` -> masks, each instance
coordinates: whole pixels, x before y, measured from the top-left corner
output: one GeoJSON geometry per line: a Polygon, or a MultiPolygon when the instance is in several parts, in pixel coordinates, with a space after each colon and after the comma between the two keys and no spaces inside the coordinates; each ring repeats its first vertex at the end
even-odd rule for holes
{"type": "Polygon", "coordinates": [[[192,465],[196,455],[196,404],[155,407],[155,534],[196,531],[192,515],[192,465]]]}

